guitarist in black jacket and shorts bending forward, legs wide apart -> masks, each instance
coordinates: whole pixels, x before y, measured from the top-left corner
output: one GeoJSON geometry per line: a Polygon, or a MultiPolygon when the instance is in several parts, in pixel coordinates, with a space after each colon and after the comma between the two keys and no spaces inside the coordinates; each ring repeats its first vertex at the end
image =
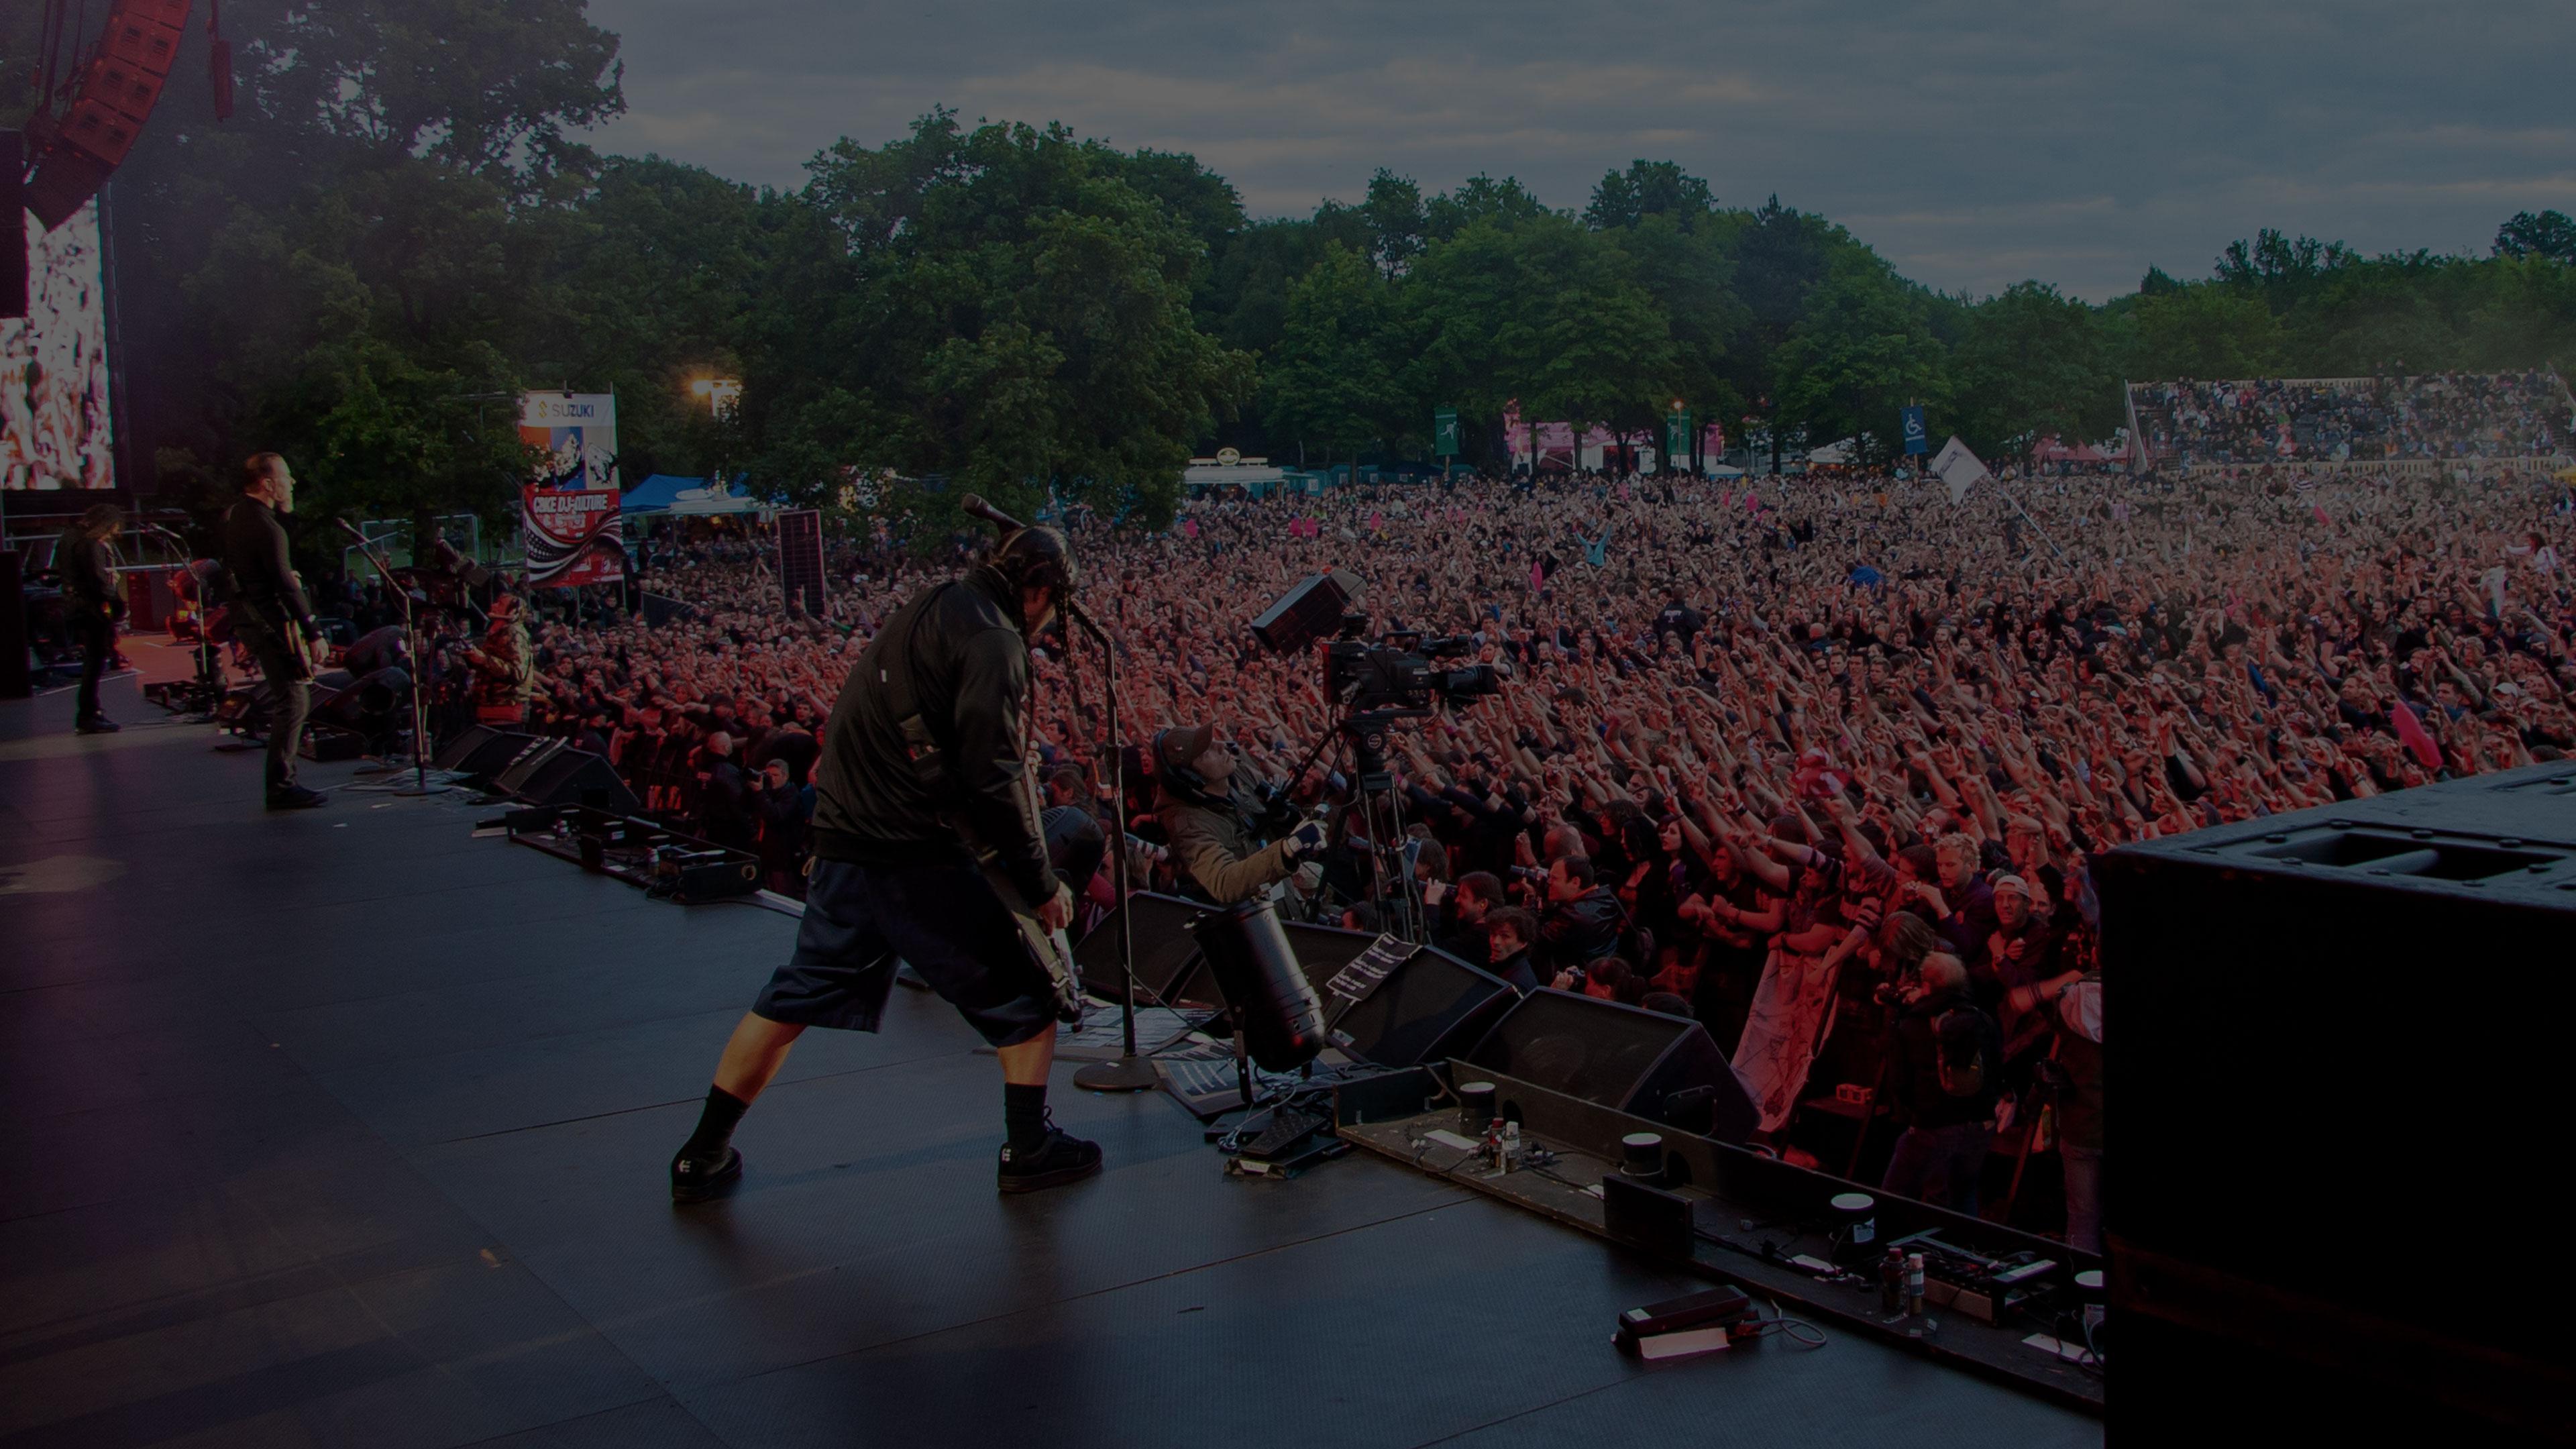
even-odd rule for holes
{"type": "Polygon", "coordinates": [[[806,1026],[876,1031],[896,957],[1002,1057],[1002,1191],[1100,1171],[1100,1147],[1048,1119],[1056,982],[994,884],[1033,902],[1048,931],[1072,920],[1074,897],[1048,869],[1025,773],[1028,637],[1072,583],[1064,536],[1020,529],[984,565],[914,596],[858,655],[814,771],[814,871],[796,954],[716,1062],[698,1129],[670,1165],[675,1201],[742,1176],[734,1124],[806,1026]],[[935,763],[925,768],[922,755],[935,763]],[[971,843],[989,853],[984,866],[971,843]]]}

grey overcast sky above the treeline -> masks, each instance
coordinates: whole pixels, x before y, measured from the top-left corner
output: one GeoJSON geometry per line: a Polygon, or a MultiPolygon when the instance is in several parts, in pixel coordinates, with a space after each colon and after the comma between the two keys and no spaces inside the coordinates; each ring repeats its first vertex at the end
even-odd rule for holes
{"type": "Polygon", "coordinates": [[[1582,206],[1631,157],[1821,211],[1917,281],[2094,302],[2257,227],[2486,253],[2576,211],[2568,0],[1378,5],[592,0],[598,139],[799,186],[912,116],[1185,150],[1255,217],[1489,170],[1582,206]]]}

